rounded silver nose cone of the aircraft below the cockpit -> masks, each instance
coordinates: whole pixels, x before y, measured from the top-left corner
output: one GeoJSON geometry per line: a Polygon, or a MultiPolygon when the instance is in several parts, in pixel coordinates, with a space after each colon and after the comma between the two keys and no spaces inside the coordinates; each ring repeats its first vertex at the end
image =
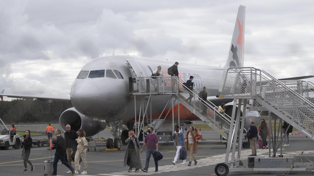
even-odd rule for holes
{"type": "Polygon", "coordinates": [[[99,89],[89,83],[78,83],[71,89],[72,105],[81,113],[92,111],[98,105],[99,89]]]}

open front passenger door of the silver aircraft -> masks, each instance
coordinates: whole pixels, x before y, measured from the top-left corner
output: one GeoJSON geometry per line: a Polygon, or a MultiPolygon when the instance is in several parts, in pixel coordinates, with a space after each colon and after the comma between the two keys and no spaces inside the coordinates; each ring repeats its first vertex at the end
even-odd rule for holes
{"type": "MultiPolygon", "coordinates": [[[[144,77],[143,70],[138,65],[136,60],[127,59],[127,66],[129,66],[133,77],[144,77]]],[[[132,80],[132,84],[133,84],[133,91],[136,91],[135,89],[139,90],[138,89],[139,86],[141,86],[140,88],[141,92],[146,91],[146,81],[144,78],[136,78],[132,80]]]]}

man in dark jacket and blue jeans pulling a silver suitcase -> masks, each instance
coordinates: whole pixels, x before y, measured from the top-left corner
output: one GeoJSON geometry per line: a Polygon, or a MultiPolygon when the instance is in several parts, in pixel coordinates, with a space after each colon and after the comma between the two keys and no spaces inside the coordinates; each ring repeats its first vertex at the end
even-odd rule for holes
{"type": "Polygon", "coordinates": [[[54,142],[55,146],[53,146],[52,148],[51,147],[48,148],[48,150],[56,149],[55,158],[53,159],[53,172],[49,174],[49,176],[57,175],[57,166],[58,166],[59,160],[61,161],[62,164],[67,166],[71,170],[72,175],[74,175],[75,169],[68,162],[65,161],[66,148],[65,148],[64,138],[61,136],[61,130],[57,128],[54,134],[55,134],[55,142],[54,142]]]}

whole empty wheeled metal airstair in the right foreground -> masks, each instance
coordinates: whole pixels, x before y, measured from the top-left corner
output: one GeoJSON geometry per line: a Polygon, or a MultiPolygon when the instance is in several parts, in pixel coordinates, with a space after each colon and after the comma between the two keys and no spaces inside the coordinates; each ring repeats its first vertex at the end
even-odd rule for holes
{"type": "MultiPolygon", "coordinates": [[[[297,163],[297,160],[293,159],[293,157],[292,159],[286,158],[284,160],[275,158],[276,151],[281,147],[283,136],[286,135],[286,132],[281,135],[281,141],[279,145],[276,146],[275,140],[273,139],[276,138],[276,134],[273,135],[272,133],[272,122],[270,118],[270,113],[273,112],[281,118],[280,122],[282,122],[282,120],[288,122],[300,132],[314,140],[314,104],[312,101],[314,94],[313,84],[311,82],[301,80],[279,81],[260,69],[253,67],[233,67],[224,72],[219,91],[221,92],[219,98],[233,99],[234,106],[231,121],[236,120],[236,122],[234,126],[230,126],[225,163],[217,164],[215,168],[217,175],[227,175],[228,172],[240,171],[301,171],[313,169],[313,164],[311,163],[313,163],[314,160],[306,160],[297,163]],[[237,153],[235,145],[233,145],[233,147],[231,146],[231,144],[235,144],[237,141],[236,132],[238,131],[240,135],[242,135],[240,129],[243,129],[243,123],[240,127],[239,113],[237,117],[235,117],[235,107],[237,105],[245,106],[245,104],[241,104],[241,102],[247,102],[247,100],[252,100],[252,107],[250,107],[249,110],[269,112],[270,131],[268,134],[271,135],[268,136],[268,140],[269,145],[271,143],[273,144],[272,158],[274,158],[271,159],[271,151],[269,148],[269,158],[264,159],[263,157],[252,156],[253,165],[251,165],[251,167],[250,162],[248,163],[248,167],[246,167],[243,166],[240,161],[241,145],[239,145],[237,153]],[[270,142],[271,136],[273,136],[272,142],[270,142]],[[229,154],[231,155],[231,159],[229,154]],[[291,167],[287,165],[288,160],[294,162],[291,167]],[[263,163],[263,161],[267,161],[265,165],[262,164],[258,167],[254,167],[254,163],[260,164],[263,163]],[[279,165],[283,165],[279,166],[277,163],[269,165],[271,162],[279,162],[279,165]],[[304,162],[306,162],[306,164],[304,164],[304,162]]],[[[246,108],[244,108],[244,111],[245,109],[246,108]]],[[[245,116],[244,112],[243,116],[245,116]]],[[[276,129],[274,132],[276,132],[276,129]]],[[[238,142],[241,143],[242,138],[240,138],[238,142]]],[[[282,155],[280,156],[282,157],[282,155]]],[[[250,158],[248,158],[248,161],[250,161],[250,158]]]]}

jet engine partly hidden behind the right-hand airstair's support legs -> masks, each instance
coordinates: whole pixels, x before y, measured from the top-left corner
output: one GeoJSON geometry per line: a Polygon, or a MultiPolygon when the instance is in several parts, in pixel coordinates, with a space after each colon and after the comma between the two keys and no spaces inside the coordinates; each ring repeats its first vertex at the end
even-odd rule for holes
{"type": "MultiPolygon", "coordinates": [[[[248,130],[250,128],[250,126],[251,126],[250,121],[254,121],[254,125],[256,127],[258,127],[258,125],[261,123],[261,115],[257,111],[249,111],[249,109],[248,109],[249,107],[251,107],[251,105],[250,104],[246,104],[245,119],[242,119],[242,123],[244,122],[244,128],[246,130],[248,130]]],[[[225,104],[225,108],[226,108],[225,113],[228,114],[228,116],[231,117],[232,108],[233,108],[233,102],[225,104]]],[[[236,113],[237,113],[237,110],[238,110],[238,106],[236,106],[236,113]]],[[[241,106],[241,112],[240,113],[241,113],[240,116],[242,116],[243,106],[241,106]]],[[[235,118],[236,118],[236,116],[235,116],[235,118]]]]}

